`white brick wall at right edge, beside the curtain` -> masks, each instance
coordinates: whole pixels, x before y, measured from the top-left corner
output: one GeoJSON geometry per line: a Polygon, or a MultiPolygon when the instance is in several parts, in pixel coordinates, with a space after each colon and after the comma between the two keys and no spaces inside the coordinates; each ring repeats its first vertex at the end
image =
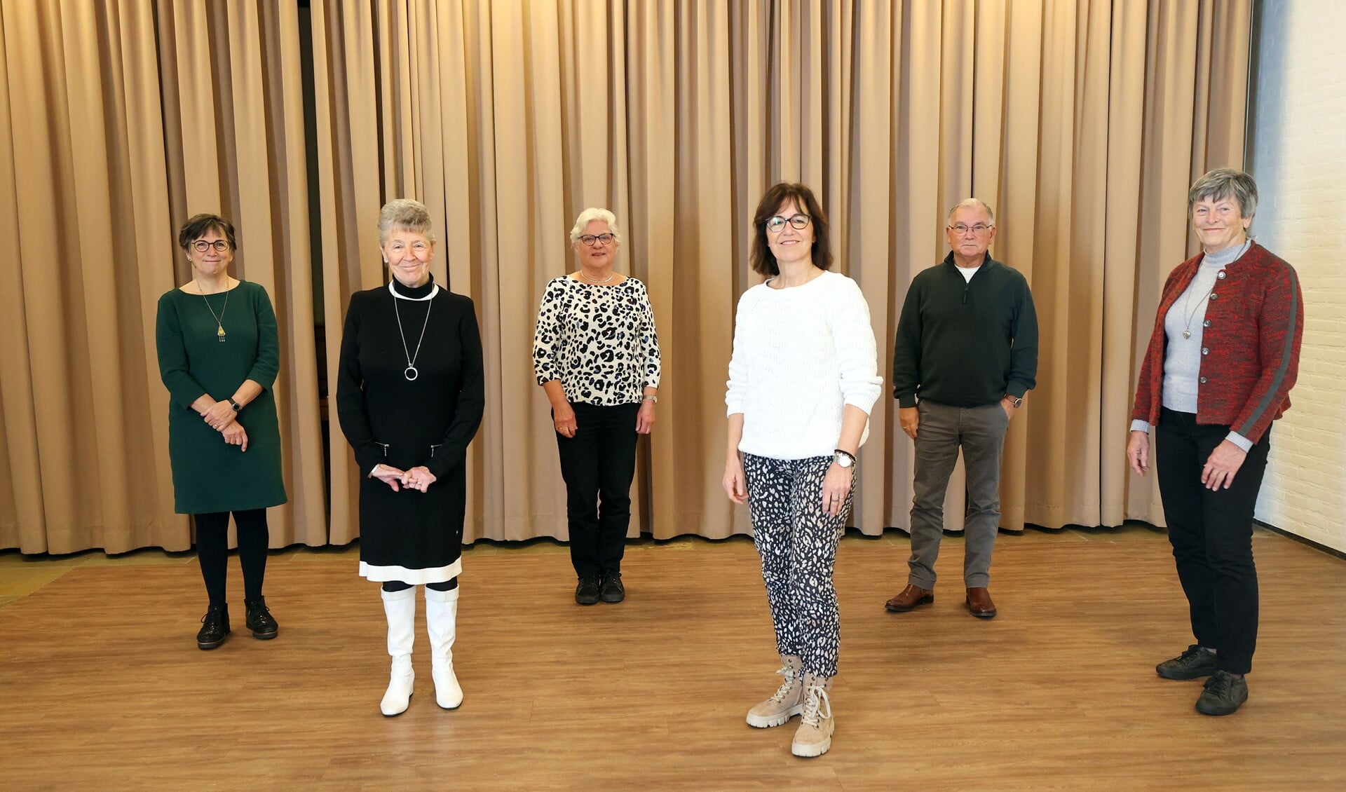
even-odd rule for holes
{"type": "Polygon", "coordinates": [[[1299,382],[1273,425],[1257,519],[1346,550],[1346,9],[1264,0],[1254,35],[1252,233],[1304,292],[1299,382]]]}

